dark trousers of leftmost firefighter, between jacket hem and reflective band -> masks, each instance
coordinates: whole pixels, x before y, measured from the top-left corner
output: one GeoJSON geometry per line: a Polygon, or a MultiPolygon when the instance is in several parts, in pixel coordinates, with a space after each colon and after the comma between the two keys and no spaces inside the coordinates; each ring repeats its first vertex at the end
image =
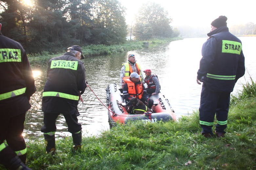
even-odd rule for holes
{"type": "Polygon", "coordinates": [[[21,151],[26,148],[26,143],[22,136],[25,122],[25,113],[14,117],[2,116],[0,119],[0,144],[5,140],[13,151],[21,151]]]}

